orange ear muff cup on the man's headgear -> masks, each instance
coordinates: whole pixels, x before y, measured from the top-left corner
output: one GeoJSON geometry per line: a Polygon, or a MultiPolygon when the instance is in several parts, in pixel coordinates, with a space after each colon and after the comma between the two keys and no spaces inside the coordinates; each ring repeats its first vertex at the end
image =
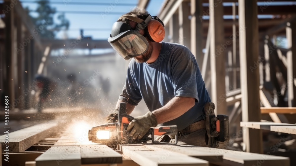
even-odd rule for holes
{"type": "Polygon", "coordinates": [[[160,42],[165,38],[165,28],[163,25],[155,20],[152,19],[148,22],[147,25],[148,36],[152,41],[160,42]]]}

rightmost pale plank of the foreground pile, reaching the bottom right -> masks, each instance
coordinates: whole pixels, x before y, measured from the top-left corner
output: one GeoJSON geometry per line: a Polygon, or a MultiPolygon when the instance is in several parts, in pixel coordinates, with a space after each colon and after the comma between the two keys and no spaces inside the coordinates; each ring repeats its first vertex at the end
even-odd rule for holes
{"type": "Polygon", "coordinates": [[[226,149],[192,147],[191,149],[202,151],[206,150],[213,154],[223,154],[223,163],[232,166],[289,166],[288,157],[272,156],[267,154],[248,153],[243,151],[232,151],[226,149]]]}

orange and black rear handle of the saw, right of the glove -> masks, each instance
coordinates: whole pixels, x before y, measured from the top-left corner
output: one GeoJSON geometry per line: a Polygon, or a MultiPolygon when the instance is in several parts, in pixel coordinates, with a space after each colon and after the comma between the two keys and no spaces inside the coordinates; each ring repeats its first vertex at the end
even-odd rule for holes
{"type": "Polygon", "coordinates": [[[177,144],[177,137],[178,137],[178,128],[177,126],[160,126],[160,127],[152,127],[152,143],[153,144],[177,144]],[[154,141],[154,135],[175,135],[175,143],[167,143],[167,142],[158,142],[154,141]]]}

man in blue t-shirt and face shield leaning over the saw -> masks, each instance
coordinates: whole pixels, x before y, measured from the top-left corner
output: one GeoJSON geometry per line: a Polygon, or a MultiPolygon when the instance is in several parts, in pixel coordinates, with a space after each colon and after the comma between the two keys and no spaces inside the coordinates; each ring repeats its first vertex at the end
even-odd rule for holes
{"type": "MultiPolygon", "coordinates": [[[[162,21],[140,8],[113,24],[109,43],[122,58],[132,59],[123,92],[107,122],[117,122],[119,103],[126,102],[126,113],[131,114],[144,99],[149,112],[127,128],[133,139],[142,138],[158,124],[177,125],[178,144],[207,146],[204,105],[211,99],[200,69],[188,48],[160,42],[164,36],[162,21]]],[[[173,137],[160,140],[168,139],[173,137]]]]}

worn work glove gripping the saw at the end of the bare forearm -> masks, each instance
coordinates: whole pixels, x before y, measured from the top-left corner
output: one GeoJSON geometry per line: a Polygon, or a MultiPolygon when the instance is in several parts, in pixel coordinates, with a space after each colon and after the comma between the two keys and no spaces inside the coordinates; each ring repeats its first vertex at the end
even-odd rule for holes
{"type": "Polygon", "coordinates": [[[147,114],[143,116],[138,116],[135,119],[133,119],[129,123],[127,130],[131,130],[130,136],[132,136],[133,139],[141,139],[151,127],[156,126],[157,121],[155,115],[149,111],[147,112],[147,114]]]}

